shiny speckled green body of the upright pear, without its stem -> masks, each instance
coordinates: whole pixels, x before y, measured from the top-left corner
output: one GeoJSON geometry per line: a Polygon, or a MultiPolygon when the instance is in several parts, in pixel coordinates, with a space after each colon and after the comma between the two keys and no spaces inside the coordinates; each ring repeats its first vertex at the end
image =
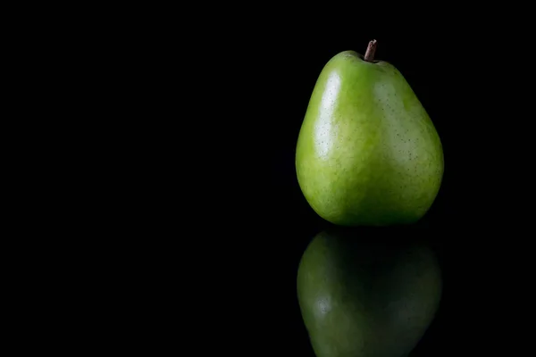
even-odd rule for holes
{"type": "Polygon", "coordinates": [[[440,137],[389,62],[345,51],[326,63],[297,138],[299,187],[340,226],[411,224],[439,193],[440,137]]]}

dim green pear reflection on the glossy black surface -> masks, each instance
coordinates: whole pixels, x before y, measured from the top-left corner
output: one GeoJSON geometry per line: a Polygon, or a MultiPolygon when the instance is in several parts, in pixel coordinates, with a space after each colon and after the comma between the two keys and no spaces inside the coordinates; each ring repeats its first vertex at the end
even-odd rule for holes
{"type": "Polygon", "coordinates": [[[302,256],[297,295],[317,357],[406,356],[439,307],[440,266],[431,248],[366,233],[331,228],[302,256]]]}

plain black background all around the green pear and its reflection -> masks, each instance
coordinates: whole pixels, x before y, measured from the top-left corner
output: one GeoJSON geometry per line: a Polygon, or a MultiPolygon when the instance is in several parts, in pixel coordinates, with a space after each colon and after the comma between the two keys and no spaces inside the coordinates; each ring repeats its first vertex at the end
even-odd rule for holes
{"type": "Polygon", "coordinates": [[[532,12],[439,4],[395,22],[373,5],[130,4],[10,27],[27,38],[6,50],[21,65],[6,67],[20,100],[8,121],[32,145],[5,190],[32,214],[6,239],[22,245],[8,274],[25,275],[21,308],[6,306],[40,337],[13,328],[19,346],[312,357],[297,265],[328,224],[297,185],[297,135],[325,63],[374,38],[445,154],[423,220],[367,232],[424,237],[440,258],[440,311],[415,357],[532,348],[532,12]]]}

